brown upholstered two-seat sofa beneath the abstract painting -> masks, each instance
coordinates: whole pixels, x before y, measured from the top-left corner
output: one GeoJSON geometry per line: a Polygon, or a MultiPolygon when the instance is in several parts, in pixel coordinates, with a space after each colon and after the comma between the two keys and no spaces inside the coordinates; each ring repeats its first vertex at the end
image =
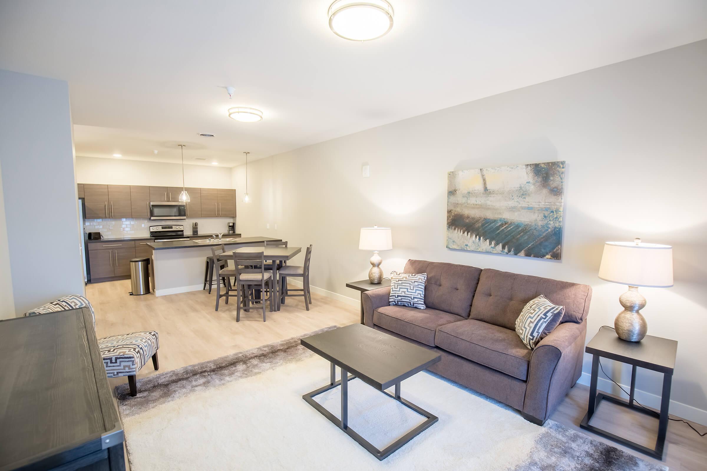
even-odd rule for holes
{"type": "Polygon", "coordinates": [[[404,272],[427,273],[426,309],[390,306],[390,287],[378,288],[363,293],[366,326],[440,352],[431,371],[543,424],[582,374],[592,288],[422,260],[407,261],[404,272]],[[539,294],[565,306],[565,314],[529,350],[515,333],[515,319],[539,294]]]}

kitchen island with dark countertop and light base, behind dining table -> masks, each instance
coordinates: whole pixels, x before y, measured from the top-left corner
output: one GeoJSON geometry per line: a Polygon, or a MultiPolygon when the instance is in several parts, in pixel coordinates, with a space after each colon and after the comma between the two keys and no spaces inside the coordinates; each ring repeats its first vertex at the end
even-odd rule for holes
{"type": "Polygon", "coordinates": [[[211,255],[212,246],[224,245],[228,251],[238,247],[262,246],[266,241],[279,240],[256,236],[223,237],[221,241],[214,242],[208,242],[207,239],[148,242],[147,246],[152,249],[150,271],[153,292],[156,296],[165,296],[202,290],[206,257],[211,255]]]}

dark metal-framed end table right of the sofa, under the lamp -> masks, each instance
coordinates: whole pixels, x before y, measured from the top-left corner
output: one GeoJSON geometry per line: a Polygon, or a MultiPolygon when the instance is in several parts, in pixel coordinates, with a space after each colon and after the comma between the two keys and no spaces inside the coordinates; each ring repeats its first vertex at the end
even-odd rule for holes
{"type": "Polygon", "coordinates": [[[585,348],[587,353],[593,355],[592,358],[592,380],[589,388],[589,408],[584,416],[580,427],[593,431],[595,434],[612,439],[623,445],[640,451],[646,455],[662,460],[663,448],[665,448],[665,435],[667,434],[668,406],[670,405],[670,385],[672,383],[672,372],[675,367],[675,355],[677,354],[677,342],[667,338],[646,335],[641,342],[627,342],[621,340],[616,330],[603,326],[597,335],[590,340],[585,348]],[[631,392],[629,400],[614,398],[604,393],[597,394],[597,376],[599,375],[600,357],[624,362],[632,365],[631,368],[631,392]],[[660,413],[653,410],[644,409],[636,404],[634,395],[636,393],[636,368],[652,369],[663,374],[662,397],[660,399],[660,413]],[[606,430],[590,425],[592,415],[599,407],[602,400],[608,400],[614,404],[629,407],[645,415],[658,417],[658,439],[655,441],[655,448],[647,448],[643,445],[614,435],[606,430]]]}

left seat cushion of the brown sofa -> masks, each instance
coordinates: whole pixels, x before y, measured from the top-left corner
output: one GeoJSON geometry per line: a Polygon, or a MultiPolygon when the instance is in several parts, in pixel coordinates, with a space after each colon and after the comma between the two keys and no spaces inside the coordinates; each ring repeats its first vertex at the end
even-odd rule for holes
{"type": "Polygon", "coordinates": [[[435,331],[439,326],[462,320],[456,314],[429,308],[421,310],[414,307],[382,306],[373,311],[373,323],[376,326],[431,347],[435,346],[435,331]]]}

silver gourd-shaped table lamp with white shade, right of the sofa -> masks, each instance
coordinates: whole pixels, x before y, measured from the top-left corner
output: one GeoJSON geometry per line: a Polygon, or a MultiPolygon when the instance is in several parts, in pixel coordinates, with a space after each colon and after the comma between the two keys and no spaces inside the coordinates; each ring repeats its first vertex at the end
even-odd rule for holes
{"type": "Polygon", "coordinates": [[[638,292],[638,287],[672,286],[672,246],[646,244],[638,238],[633,242],[607,242],[599,278],[629,285],[629,291],[619,297],[624,310],[614,319],[614,328],[619,338],[640,342],[648,331],[648,323],[641,314],[645,298],[638,292]]]}

